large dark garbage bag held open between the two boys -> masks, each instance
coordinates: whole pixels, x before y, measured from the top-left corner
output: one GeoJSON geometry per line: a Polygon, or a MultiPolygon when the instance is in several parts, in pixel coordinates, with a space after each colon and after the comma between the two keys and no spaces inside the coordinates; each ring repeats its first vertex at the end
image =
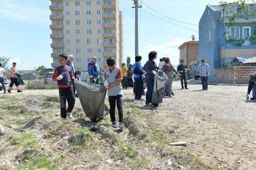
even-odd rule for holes
{"type": "Polygon", "coordinates": [[[84,113],[91,121],[104,117],[109,113],[104,104],[107,89],[98,84],[74,80],[76,91],[83,107],[84,113]]]}

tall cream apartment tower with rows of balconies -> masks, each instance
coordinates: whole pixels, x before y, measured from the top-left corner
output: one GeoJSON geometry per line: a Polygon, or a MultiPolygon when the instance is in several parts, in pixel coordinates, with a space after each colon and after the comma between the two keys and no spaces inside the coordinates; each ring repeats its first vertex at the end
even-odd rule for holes
{"type": "Polygon", "coordinates": [[[76,70],[87,70],[92,57],[105,68],[113,57],[117,66],[124,61],[124,16],[118,0],[51,0],[52,66],[61,53],[74,55],[76,70]]]}

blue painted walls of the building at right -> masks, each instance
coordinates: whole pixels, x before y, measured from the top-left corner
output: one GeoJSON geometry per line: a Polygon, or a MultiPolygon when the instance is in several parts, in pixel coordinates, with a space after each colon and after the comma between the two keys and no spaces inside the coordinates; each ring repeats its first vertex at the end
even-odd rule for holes
{"type": "MultiPolygon", "coordinates": [[[[206,62],[210,66],[209,81],[214,81],[214,68],[222,67],[222,60],[220,59],[221,49],[250,49],[256,48],[256,46],[244,45],[244,46],[225,46],[225,31],[228,27],[228,23],[221,21],[221,11],[206,6],[204,13],[199,21],[199,63],[202,59],[206,59],[206,62]],[[208,16],[209,10],[209,16],[208,16]],[[210,30],[211,39],[210,43],[207,43],[207,31],[210,30]]],[[[226,17],[229,18],[229,17],[226,17]]],[[[254,17],[255,18],[255,17],[254,17]]],[[[252,22],[234,23],[233,27],[240,27],[240,37],[242,37],[242,27],[251,27],[251,35],[255,33],[256,24],[252,22]]]]}

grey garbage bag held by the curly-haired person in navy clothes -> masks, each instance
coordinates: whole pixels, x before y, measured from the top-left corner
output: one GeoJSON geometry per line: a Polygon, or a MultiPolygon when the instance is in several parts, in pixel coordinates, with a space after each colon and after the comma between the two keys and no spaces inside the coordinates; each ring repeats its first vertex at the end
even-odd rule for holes
{"type": "Polygon", "coordinates": [[[154,75],[155,75],[154,76],[154,87],[153,87],[151,104],[153,106],[158,106],[160,103],[163,102],[162,87],[166,83],[168,77],[162,70],[159,70],[154,75]]]}

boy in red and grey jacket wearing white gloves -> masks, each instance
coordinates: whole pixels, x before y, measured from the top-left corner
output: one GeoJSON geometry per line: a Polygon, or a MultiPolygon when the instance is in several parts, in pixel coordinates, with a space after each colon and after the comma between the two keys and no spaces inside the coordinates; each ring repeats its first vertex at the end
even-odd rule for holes
{"type": "Polygon", "coordinates": [[[72,68],[67,66],[68,56],[66,54],[59,55],[60,66],[56,67],[52,76],[52,80],[57,81],[60,94],[60,115],[61,119],[67,117],[72,118],[71,111],[75,106],[75,96],[72,88],[74,74],[72,68]],[[68,109],[66,109],[66,100],[68,100],[68,109]]]}

